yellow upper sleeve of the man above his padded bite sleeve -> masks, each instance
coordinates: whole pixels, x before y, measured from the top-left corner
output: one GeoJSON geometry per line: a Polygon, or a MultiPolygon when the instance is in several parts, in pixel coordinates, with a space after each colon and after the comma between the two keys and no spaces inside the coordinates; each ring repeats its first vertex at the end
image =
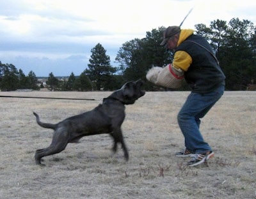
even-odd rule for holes
{"type": "Polygon", "coordinates": [[[192,58],[187,52],[182,50],[175,52],[172,63],[175,68],[180,68],[183,71],[188,71],[188,68],[191,65],[191,63],[192,58]]]}

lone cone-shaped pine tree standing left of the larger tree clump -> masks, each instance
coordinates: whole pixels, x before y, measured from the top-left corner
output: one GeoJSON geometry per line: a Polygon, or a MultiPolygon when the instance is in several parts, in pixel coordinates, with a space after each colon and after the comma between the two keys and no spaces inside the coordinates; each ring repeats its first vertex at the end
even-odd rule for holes
{"type": "Polygon", "coordinates": [[[84,72],[90,80],[95,82],[96,89],[99,91],[101,88],[108,87],[108,81],[111,79],[111,75],[116,72],[116,68],[111,66],[110,57],[106,55],[106,50],[100,43],[92,48],[91,52],[89,69],[84,70],[84,72]]]}

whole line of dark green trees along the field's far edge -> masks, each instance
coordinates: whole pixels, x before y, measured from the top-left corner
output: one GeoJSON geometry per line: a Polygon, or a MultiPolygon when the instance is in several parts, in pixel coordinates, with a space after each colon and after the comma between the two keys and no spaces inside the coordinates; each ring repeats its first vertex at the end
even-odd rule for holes
{"type": "MultiPolygon", "coordinates": [[[[172,63],[173,52],[167,51],[159,43],[163,40],[166,27],[152,29],[145,38],[125,42],[118,50],[115,62],[110,64],[106,50],[98,43],[92,50],[88,67],[79,75],[70,74],[68,80],[60,82],[49,73],[47,87],[51,91],[113,91],[129,80],[145,80],[148,91],[160,87],[147,82],[145,75],[152,66],[166,66],[172,63]]],[[[228,23],[214,20],[209,26],[196,24],[195,33],[204,36],[211,44],[220,66],[225,73],[226,90],[245,90],[254,84],[256,78],[256,27],[249,20],[232,18],[228,23]]],[[[17,88],[39,89],[36,75],[30,71],[28,76],[12,64],[0,62],[0,88],[12,91],[17,88]]],[[[42,86],[41,86],[42,87],[42,86]]],[[[179,90],[189,89],[184,82],[179,90]]]]}

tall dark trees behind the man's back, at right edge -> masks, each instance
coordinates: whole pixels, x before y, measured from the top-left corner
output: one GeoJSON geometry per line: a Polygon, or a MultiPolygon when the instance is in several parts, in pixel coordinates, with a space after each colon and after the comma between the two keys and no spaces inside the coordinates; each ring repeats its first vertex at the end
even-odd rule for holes
{"type": "Polygon", "coordinates": [[[210,27],[198,24],[197,34],[209,39],[226,75],[227,90],[244,90],[256,78],[255,26],[248,20],[214,20],[210,27]]]}

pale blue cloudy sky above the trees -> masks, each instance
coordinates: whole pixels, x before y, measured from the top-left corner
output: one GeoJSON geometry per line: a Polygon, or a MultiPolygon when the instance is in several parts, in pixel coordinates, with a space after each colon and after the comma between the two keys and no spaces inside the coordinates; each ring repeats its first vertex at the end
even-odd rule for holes
{"type": "Polygon", "coordinates": [[[252,0],[0,0],[0,61],[36,77],[80,75],[100,43],[112,66],[122,45],[161,26],[250,20],[252,0]]]}

